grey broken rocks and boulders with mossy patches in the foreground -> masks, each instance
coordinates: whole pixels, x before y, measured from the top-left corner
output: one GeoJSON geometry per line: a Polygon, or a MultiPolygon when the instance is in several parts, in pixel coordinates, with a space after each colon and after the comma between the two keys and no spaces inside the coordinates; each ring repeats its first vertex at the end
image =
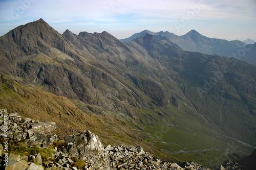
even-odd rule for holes
{"type": "Polygon", "coordinates": [[[103,147],[90,131],[59,140],[56,124],[0,111],[1,168],[5,169],[208,169],[194,162],[178,165],[157,159],[142,147],[103,147]],[[33,152],[32,152],[33,151],[33,152]]]}

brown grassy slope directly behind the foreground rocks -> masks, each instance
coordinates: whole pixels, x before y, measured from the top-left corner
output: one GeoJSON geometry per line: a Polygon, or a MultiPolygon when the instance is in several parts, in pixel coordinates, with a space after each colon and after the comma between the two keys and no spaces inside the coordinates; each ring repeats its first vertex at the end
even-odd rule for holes
{"type": "Polygon", "coordinates": [[[0,108],[19,112],[42,122],[55,122],[56,134],[64,136],[91,130],[105,145],[135,144],[156,154],[123,120],[112,115],[95,115],[82,112],[64,96],[19,84],[0,72],[0,108]],[[113,124],[115,122],[115,124],[113,124]]]}

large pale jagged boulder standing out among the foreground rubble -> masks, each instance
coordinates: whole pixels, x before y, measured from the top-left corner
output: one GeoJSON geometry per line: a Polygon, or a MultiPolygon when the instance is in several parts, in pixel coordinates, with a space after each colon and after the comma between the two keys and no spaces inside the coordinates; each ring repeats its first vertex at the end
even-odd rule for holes
{"type": "Polygon", "coordinates": [[[104,152],[98,136],[92,132],[75,133],[66,136],[64,140],[70,156],[92,164],[95,169],[111,169],[109,154],[104,152]],[[89,157],[91,159],[88,159],[89,157]]]}

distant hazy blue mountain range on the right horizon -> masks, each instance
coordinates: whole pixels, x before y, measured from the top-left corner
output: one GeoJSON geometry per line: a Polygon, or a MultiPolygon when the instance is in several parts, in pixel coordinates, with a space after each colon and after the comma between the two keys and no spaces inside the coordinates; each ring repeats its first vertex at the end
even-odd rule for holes
{"type": "Polygon", "coordinates": [[[149,30],[144,30],[120,41],[130,42],[146,34],[153,35],[157,41],[176,45],[184,51],[232,57],[256,65],[256,55],[253,53],[255,51],[255,42],[252,39],[227,41],[218,38],[208,38],[199,34],[196,30],[191,30],[182,36],[169,33],[168,31],[153,33],[149,30]]]}

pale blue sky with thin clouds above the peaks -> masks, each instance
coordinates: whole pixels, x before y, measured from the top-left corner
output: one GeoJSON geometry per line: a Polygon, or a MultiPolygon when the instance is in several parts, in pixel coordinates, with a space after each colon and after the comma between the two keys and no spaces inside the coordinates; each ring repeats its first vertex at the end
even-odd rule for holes
{"type": "Polygon", "coordinates": [[[256,41],[255,0],[0,0],[0,36],[38,19],[60,34],[107,31],[118,39],[143,30],[256,41]]]}

